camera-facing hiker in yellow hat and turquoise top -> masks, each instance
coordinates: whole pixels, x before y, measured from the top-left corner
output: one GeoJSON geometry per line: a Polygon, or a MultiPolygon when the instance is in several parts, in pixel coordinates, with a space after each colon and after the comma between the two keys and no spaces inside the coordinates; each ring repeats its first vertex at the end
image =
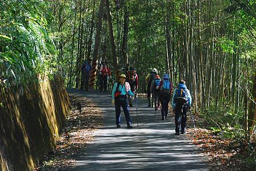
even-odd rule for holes
{"type": "Polygon", "coordinates": [[[115,105],[115,121],[117,123],[117,128],[121,127],[121,106],[123,112],[125,113],[125,119],[127,122],[127,128],[133,128],[131,126],[131,118],[128,109],[127,94],[136,97],[137,94],[131,92],[131,88],[128,82],[125,82],[125,74],[119,76],[119,82],[114,84],[112,90],[112,104],[115,105]]]}

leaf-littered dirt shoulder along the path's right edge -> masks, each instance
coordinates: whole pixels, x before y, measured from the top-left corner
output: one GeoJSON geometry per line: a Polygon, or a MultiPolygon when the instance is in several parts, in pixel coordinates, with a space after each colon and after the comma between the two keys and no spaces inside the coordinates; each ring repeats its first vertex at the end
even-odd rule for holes
{"type": "Polygon", "coordinates": [[[234,139],[225,139],[220,134],[209,130],[207,122],[194,115],[196,129],[193,127],[192,119],[188,113],[187,136],[197,145],[205,156],[208,156],[210,170],[255,170],[254,157],[248,156],[248,147],[245,142],[234,139]]]}

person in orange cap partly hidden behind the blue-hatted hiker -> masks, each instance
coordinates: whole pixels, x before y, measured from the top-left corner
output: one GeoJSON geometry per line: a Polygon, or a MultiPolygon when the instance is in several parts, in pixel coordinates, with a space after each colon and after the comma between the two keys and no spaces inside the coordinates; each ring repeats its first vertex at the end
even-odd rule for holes
{"type": "Polygon", "coordinates": [[[160,81],[161,81],[160,76],[156,75],[150,86],[150,93],[153,93],[154,95],[155,110],[159,110],[160,108],[160,101],[159,101],[160,81]]]}

